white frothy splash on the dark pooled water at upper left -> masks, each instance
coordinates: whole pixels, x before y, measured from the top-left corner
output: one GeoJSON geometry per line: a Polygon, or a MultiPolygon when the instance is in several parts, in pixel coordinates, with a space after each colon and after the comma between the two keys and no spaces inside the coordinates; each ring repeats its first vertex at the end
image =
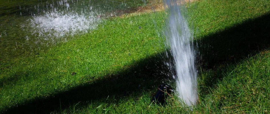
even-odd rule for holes
{"type": "Polygon", "coordinates": [[[47,12],[45,15],[34,16],[31,19],[33,33],[44,38],[74,35],[78,32],[86,33],[97,27],[99,18],[95,13],[78,15],[78,13],[47,12]]]}

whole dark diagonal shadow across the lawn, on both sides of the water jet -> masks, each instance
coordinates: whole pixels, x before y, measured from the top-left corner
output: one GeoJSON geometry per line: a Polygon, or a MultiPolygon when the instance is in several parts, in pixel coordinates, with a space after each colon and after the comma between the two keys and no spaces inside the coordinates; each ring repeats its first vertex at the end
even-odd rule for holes
{"type": "MultiPolygon", "coordinates": [[[[199,48],[202,56],[200,60],[202,68],[207,70],[215,69],[221,65],[235,64],[243,58],[269,48],[269,22],[270,15],[268,13],[197,40],[196,42],[204,45],[199,48]]],[[[58,112],[78,102],[86,105],[98,99],[106,99],[108,96],[114,96],[113,98],[117,102],[123,97],[129,97],[131,94],[137,95],[142,91],[155,91],[156,87],[167,79],[166,76],[160,74],[160,71],[168,72],[162,66],[162,58],[152,56],[115,76],[105,76],[105,78],[95,82],[78,86],[48,98],[37,98],[24,105],[9,108],[4,113],[58,112]]],[[[223,70],[226,72],[226,69],[223,70]]],[[[215,73],[218,74],[220,71],[215,73]]],[[[217,80],[222,78],[222,75],[209,77],[207,86],[215,85],[217,80]]]]}

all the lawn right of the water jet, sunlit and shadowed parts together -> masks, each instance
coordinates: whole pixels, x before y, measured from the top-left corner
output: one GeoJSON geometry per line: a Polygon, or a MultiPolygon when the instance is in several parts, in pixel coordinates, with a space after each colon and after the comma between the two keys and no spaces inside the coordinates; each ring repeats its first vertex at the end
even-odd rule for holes
{"type": "Polygon", "coordinates": [[[192,7],[203,7],[189,14],[201,65],[195,112],[269,113],[269,2],[213,0],[192,7]]]}

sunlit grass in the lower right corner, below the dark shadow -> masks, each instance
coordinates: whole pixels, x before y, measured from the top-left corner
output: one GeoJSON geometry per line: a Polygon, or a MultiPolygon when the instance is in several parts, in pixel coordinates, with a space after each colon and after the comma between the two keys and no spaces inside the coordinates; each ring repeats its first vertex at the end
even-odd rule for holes
{"type": "Polygon", "coordinates": [[[210,70],[204,76],[222,76],[213,87],[200,81],[200,113],[269,113],[269,49],[241,60],[227,72],[210,70]],[[220,74],[215,74],[217,72],[220,74]],[[205,93],[205,91],[207,91],[205,93]],[[207,109],[205,109],[207,108],[207,109]]]}

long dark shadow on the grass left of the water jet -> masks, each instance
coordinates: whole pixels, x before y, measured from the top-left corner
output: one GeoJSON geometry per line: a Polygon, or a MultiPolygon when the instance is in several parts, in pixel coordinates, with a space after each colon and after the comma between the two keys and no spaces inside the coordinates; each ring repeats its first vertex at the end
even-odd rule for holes
{"type": "Polygon", "coordinates": [[[162,81],[167,80],[167,77],[161,74],[161,69],[157,68],[163,64],[160,56],[149,57],[117,75],[105,76],[48,98],[36,98],[28,103],[12,107],[4,113],[59,112],[78,102],[80,105],[89,105],[100,99],[113,99],[111,101],[118,102],[124,97],[138,95],[142,91],[156,91],[162,81]]]}

